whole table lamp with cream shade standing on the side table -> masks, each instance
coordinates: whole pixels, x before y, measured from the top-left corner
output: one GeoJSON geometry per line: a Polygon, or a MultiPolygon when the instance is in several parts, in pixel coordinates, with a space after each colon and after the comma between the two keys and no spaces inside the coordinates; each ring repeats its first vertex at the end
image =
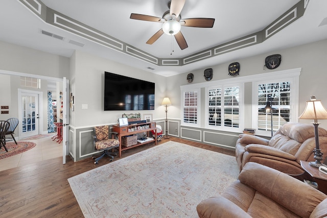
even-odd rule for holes
{"type": "Polygon", "coordinates": [[[313,150],[313,158],[316,161],[311,161],[309,165],[314,167],[319,166],[326,166],[325,164],[321,163],[322,160],[322,152],[319,148],[319,132],[318,126],[318,119],[327,119],[327,110],[322,106],[320,100],[316,100],[314,95],[311,96],[310,101],[307,101],[306,109],[303,113],[298,117],[299,119],[313,119],[314,122],[312,123],[315,128],[315,141],[316,141],[316,148],[313,150]]]}

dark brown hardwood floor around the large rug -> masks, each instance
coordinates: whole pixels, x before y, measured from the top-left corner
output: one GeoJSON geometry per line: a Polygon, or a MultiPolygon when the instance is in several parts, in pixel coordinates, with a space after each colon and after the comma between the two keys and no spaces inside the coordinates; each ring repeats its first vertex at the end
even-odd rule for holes
{"type": "MultiPolygon", "coordinates": [[[[162,139],[158,144],[168,140],[235,156],[235,151],[175,137],[162,139]]],[[[121,158],[153,146],[150,143],[127,150],[121,158]]],[[[119,159],[116,156],[114,161],[119,159]]],[[[65,165],[58,157],[0,172],[0,217],[83,217],[67,179],[107,163],[107,158],[95,165],[91,158],[73,162],[67,156],[65,165]]]]}

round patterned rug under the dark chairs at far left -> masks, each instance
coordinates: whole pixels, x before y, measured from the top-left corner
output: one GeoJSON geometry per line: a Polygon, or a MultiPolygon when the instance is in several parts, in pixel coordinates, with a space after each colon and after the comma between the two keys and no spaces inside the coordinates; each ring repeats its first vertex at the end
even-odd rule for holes
{"type": "Polygon", "coordinates": [[[8,152],[6,152],[4,147],[1,147],[0,159],[20,154],[36,146],[34,142],[30,141],[17,141],[17,143],[18,144],[16,144],[15,142],[6,142],[6,148],[8,149],[8,152]]]}

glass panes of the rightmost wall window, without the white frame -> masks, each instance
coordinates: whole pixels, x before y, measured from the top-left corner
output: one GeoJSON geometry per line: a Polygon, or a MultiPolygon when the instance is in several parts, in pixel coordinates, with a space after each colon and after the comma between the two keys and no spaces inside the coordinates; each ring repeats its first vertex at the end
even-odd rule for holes
{"type": "Polygon", "coordinates": [[[290,122],[290,87],[290,81],[258,85],[258,130],[271,131],[272,122],[276,131],[290,122]],[[271,110],[265,109],[267,102],[271,110]]]}

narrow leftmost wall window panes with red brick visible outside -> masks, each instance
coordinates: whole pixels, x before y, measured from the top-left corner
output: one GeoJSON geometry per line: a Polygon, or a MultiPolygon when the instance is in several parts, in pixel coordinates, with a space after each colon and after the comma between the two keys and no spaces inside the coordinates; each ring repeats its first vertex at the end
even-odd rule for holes
{"type": "Polygon", "coordinates": [[[183,92],[183,123],[198,124],[198,90],[183,92]]]}

